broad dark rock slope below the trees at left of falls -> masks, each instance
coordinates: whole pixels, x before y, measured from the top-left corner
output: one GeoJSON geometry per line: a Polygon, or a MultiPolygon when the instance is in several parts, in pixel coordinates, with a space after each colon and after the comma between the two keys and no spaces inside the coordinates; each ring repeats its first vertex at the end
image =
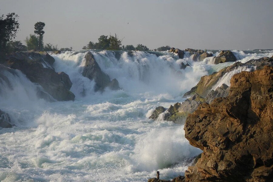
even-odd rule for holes
{"type": "MultiPolygon", "coordinates": [[[[16,52],[9,55],[5,60],[1,60],[0,63],[9,68],[20,70],[31,82],[41,85],[44,91],[54,99],[58,101],[74,100],[75,95],[61,80],[62,76],[52,68],[55,59],[46,52],[40,53],[16,52]]],[[[66,79],[70,81],[68,75],[66,79]]]]}

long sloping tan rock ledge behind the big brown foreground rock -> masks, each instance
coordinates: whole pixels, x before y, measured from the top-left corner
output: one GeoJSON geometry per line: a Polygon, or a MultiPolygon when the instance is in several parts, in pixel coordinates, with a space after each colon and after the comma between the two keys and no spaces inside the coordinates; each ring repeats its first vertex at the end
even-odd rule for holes
{"type": "MultiPolygon", "coordinates": [[[[273,65],[273,59],[269,57],[264,57],[260,59],[252,59],[246,63],[235,62],[231,66],[221,69],[218,72],[214,72],[211,75],[202,76],[199,83],[194,86],[189,92],[185,93],[183,97],[187,97],[197,93],[201,97],[207,97],[207,94],[210,92],[212,87],[221,79],[225,73],[231,72],[235,69],[238,69],[240,66],[247,66],[248,68],[252,68],[252,66],[256,66],[256,69],[262,69],[266,65],[273,65]]],[[[254,71],[254,69],[252,70],[254,71]]]]}

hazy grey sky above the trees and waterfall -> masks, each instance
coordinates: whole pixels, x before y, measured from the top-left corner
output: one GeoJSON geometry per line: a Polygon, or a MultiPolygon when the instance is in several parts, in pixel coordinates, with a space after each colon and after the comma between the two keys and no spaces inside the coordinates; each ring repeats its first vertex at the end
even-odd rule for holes
{"type": "Polygon", "coordinates": [[[100,35],[150,49],[273,49],[272,0],[0,0],[19,15],[14,40],[45,23],[43,42],[80,50],[100,35]]]}

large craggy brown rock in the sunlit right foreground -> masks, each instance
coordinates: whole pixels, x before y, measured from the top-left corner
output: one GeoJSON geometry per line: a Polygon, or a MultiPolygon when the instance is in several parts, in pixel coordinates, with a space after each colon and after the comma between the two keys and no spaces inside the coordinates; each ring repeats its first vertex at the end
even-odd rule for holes
{"type": "Polygon", "coordinates": [[[231,78],[227,98],[189,114],[185,137],[204,151],[186,181],[265,182],[273,178],[273,67],[231,78]]]}

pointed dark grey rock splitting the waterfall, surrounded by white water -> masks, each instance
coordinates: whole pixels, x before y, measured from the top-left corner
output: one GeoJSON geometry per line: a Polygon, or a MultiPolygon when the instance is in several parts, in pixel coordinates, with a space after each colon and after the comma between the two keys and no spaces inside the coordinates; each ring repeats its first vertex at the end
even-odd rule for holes
{"type": "Polygon", "coordinates": [[[98,63],[96,62],[93,54],[88,51],[84,56],[86,59],[86,63],[83,69],[83,76],[89,78],[90,80],[94,80],[96,82],[95,91],[103,91],[106,87],[110,87],[110,89],[119,90],[121,89],[117,84],[118,81],[110,80],[110,77],[101,71],[98,63]]]}

